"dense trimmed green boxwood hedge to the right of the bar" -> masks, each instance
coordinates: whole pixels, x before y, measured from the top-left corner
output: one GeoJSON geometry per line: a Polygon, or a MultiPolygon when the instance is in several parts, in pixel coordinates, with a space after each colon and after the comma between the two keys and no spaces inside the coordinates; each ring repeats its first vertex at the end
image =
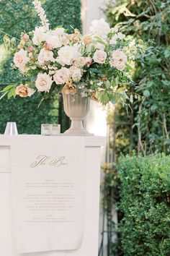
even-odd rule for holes
{"type": "Polygon", "coordinates": [[[120,225],[125,256],[170,255],[170,157],[120,158],[120,225]]]}

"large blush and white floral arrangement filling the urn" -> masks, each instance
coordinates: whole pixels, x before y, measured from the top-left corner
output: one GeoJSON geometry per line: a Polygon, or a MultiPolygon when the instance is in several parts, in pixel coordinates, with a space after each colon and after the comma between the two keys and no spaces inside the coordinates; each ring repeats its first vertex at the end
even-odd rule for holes
{"type": "Polygon", "coordinates": [[[4,36],[6,47],[14,54],[14,69],[19,69],[22,83],[8,85],[1,92],[8,98],[19,95],[42,95],[42,101],[56,93],[74,95],[106,104],[128,95],[126,85],[132,83],[130,72],[135,55],[144,51],[143,40],[132,40],[109,27],[104,19],[91,22],[90,33],[81,35],[77,29],[67,33],[63,27],[50,30],[50,24],[40,1],[33,1],[42,26],[17,38],[4,36]]]}

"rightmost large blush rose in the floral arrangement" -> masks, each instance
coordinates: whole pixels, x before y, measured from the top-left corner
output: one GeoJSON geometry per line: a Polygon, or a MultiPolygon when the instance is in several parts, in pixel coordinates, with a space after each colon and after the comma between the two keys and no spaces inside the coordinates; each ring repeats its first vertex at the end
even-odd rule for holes
{"type": "Polygon", "coordinates": [[[128,58],[123,51],[116,50],[112,51],[109,63],[111,67],[116,67],[117,69],[123,70],[125,69],[127,59],[128,58]]]}

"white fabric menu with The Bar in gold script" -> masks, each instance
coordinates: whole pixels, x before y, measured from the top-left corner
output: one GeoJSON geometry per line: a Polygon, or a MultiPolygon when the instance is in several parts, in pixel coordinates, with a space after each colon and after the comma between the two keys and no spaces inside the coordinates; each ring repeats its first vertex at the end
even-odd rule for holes
{"type": "Polygon", "coordinates": [[[84,137],[18,139],[12,145],[17,252],[75,250],[84,236],[84,137]]]}

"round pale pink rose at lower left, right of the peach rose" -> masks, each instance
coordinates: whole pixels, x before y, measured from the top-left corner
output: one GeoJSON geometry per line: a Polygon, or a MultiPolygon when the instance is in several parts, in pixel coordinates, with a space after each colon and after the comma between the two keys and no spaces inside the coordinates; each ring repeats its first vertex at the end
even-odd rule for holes
{"type": "Polygon", "coordinates": [[[47,73],[37,75],[35,86],[39,92],[49,92],[52,84],[53,80],[47,73]]]}

